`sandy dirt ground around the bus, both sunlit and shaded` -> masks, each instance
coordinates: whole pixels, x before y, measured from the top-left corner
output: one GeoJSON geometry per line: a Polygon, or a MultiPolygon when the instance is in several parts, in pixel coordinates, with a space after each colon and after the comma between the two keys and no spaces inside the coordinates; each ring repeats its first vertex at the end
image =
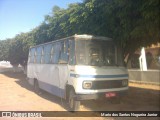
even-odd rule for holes
{"type": "MultiPolygon", "coordinates": [[[[147,84],[129,84],[128,95],[121,103],[108,100],[82,101],[80,111],[160,111],[160,86],[147,84]]],[[[68,111],[67,103],[45,91],[37,95],[27,82],[23,73],[4,72],[0,74],[0,111],[68,111]]],[[[95,112],[96,114],[96,112],[95,112]]],[[[2,119],[2,118],[0,118],[2,119]]],[[[5,118],[9,119],[9,118],[5,118]]],[[[12,118],[22,119],[22,118],[12,118]]],[[[30,118],[25,118],[29,120],[30,118]]],[[[32,118],[39,120],[40,118],[32,118]]],[[[41,118],[44,119],[44,118],[41,118]]],[[[87,120],[134,120],[137,118],[122,117],[56,117],[50,119],[87,119],[87,120]]],[[[144,120],[158,118],[140,118],[144,120]]],[[[3,118],[4,120],[4,118],[3,118]]]]}

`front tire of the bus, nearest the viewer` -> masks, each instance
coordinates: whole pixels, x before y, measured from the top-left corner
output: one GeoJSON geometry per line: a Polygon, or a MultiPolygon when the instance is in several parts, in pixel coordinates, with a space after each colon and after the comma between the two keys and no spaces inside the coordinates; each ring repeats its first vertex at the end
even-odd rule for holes
{"type": "Polygon", "coordinates": [[[75,92],[73,89],[69,91],[69,107],[71,111],[78,111],[80,108],[80,101],[74,99],[75,92]]]}

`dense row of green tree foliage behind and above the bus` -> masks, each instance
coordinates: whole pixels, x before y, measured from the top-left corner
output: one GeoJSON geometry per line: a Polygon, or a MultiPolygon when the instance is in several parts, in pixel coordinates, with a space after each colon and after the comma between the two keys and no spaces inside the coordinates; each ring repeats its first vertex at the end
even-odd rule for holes
{"type": "Polygon", "coordinates": [[[0,41],[0,60],[24,64],[30,46],[74,34],[111,37],[124,55],[132,54],[141,46],[160,42],[159,15],[159,0],[84,0],[67,9],[54,6],[30,32],[0,41]]]}

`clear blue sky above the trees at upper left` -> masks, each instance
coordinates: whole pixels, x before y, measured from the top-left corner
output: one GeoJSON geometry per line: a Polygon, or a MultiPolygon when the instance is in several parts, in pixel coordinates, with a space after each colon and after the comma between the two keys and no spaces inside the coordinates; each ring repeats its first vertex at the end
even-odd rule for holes
{"type": "Polygon", "coordinates": [[[82,0],[0,0],[0,40],[28,32],[43,22],[53,6],[67,8],[82,0]]]}

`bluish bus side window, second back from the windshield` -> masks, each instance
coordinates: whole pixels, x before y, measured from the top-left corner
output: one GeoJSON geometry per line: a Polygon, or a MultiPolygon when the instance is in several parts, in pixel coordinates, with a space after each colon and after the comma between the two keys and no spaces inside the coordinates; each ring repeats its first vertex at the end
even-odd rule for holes
{"type": "Polygon", "coordinates": [[[68,63],[68,40],[61,42],[61,54],[59,63],[60,64],[67,64],[68,63]]]}

